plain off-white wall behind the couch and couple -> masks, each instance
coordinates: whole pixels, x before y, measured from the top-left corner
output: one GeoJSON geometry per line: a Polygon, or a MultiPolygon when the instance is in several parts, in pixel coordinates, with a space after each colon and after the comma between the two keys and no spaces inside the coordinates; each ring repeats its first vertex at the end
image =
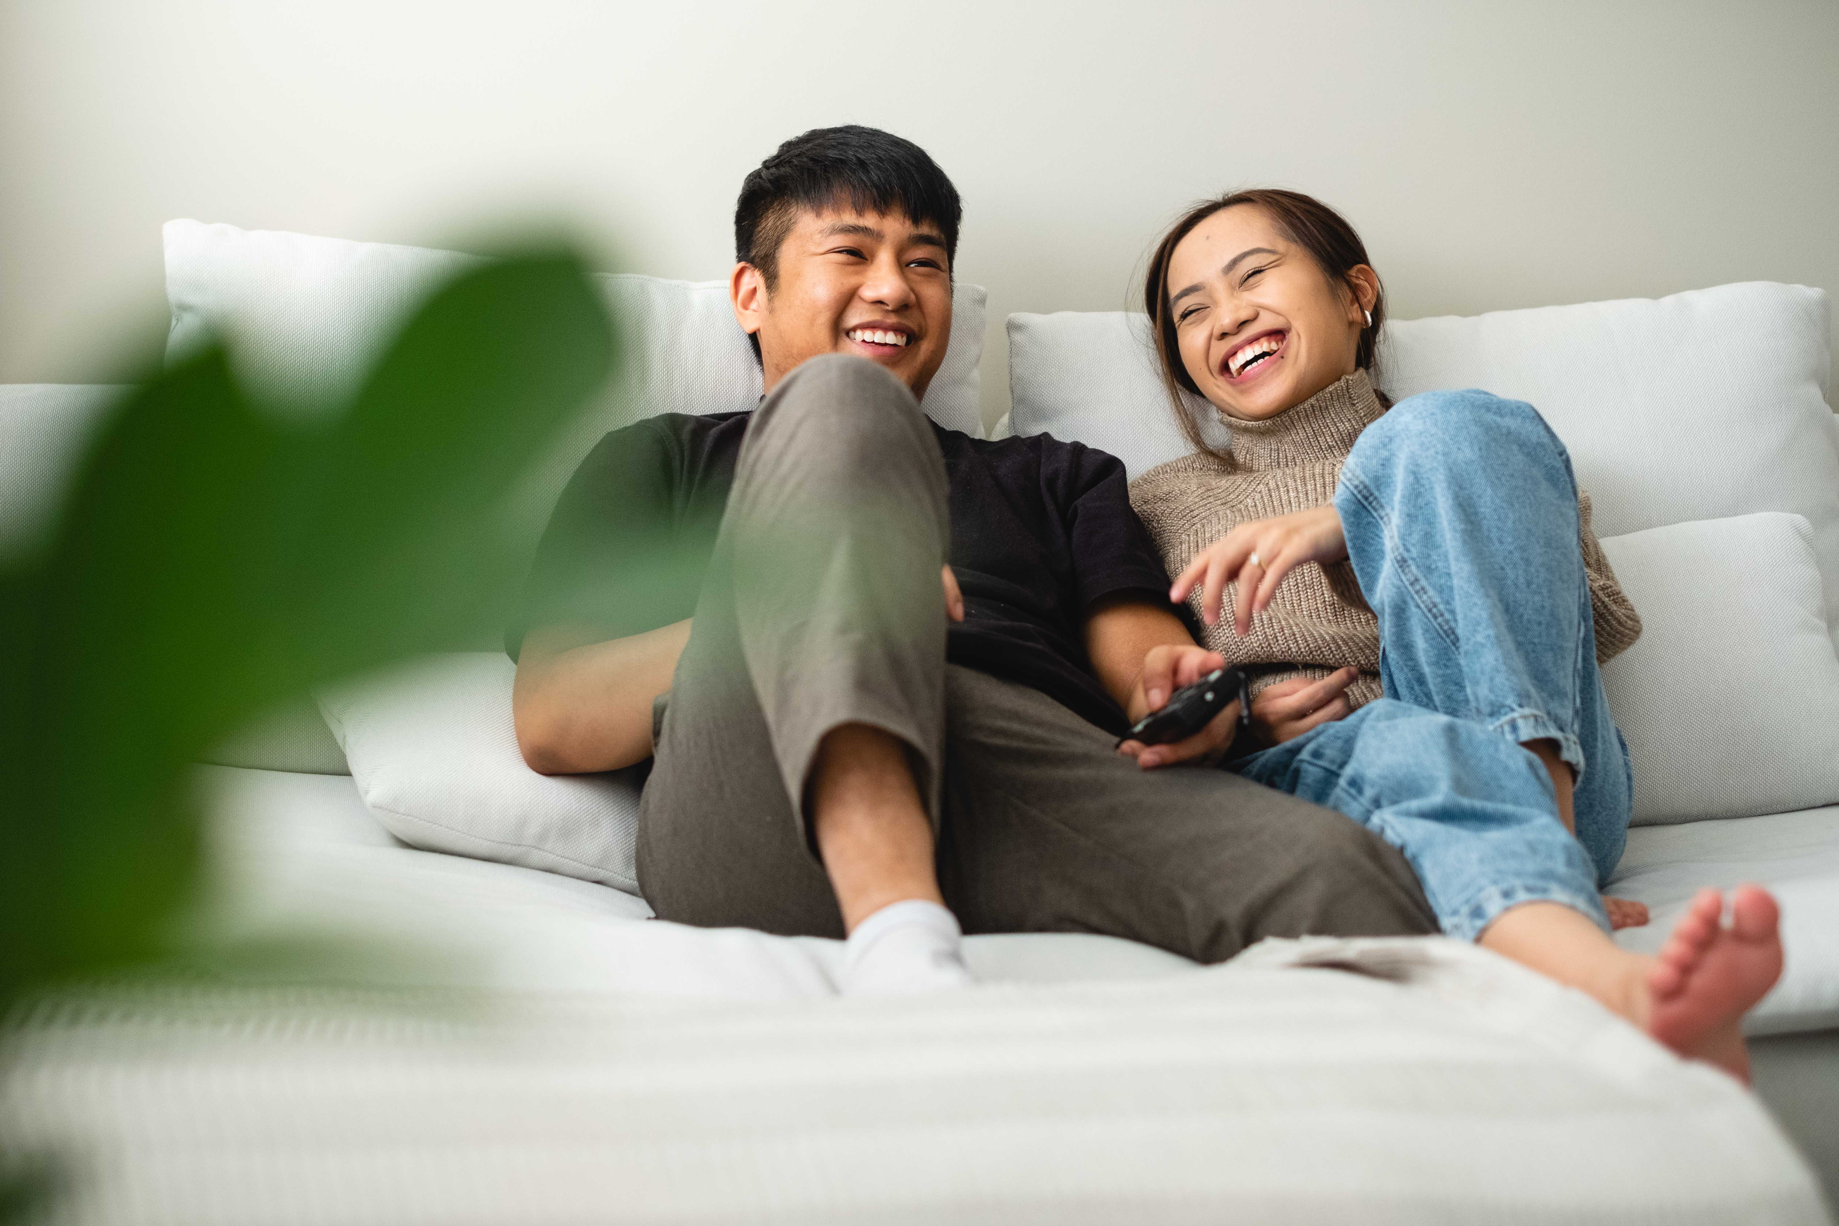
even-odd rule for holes
{"type": "Polygon", "coordinates": [[[623,268],[726,276],[741,176],[844,121],[964,193],[991,419],[1010,311],[1129,303],[1227,186],[1342,208],[1396,318],[1839,292],[1832,0],[0,0],[0,382],[156,353],[169,217],[447,244],[563,217],[623,268]]]}

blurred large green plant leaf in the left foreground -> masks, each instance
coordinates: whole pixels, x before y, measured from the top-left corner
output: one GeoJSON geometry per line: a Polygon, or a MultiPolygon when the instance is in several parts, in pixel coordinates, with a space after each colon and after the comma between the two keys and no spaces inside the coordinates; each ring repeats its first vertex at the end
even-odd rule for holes
{"type": "Polygon", "coordinates": [[[436,292],[314,423],[257,412],[221,349],[114,412],[48,546],[0,573],[0,1009],[171,952],[189,763],[469,629],[515,564],[495,507],[612,360],[579,263],[531,255],[436,292]]]}

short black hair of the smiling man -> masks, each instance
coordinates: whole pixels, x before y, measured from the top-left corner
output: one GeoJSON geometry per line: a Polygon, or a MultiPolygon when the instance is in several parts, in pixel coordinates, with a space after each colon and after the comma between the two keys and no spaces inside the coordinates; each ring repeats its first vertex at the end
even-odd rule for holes
{"type": "MultiPolygon", "coordinates": [[[[945,268],[958,255],[964,206],[945,171],[910,140],[846,123],[811,129],[778,147],[741,182],[734,204],[734,257],[760,268],[771,290],[780,246],[800,210],[848,206],[861,213],[905,213],[931,222],[945,239],[945,268]]],[[[750,336],[760,353],[760,336],[750,336]]]]}

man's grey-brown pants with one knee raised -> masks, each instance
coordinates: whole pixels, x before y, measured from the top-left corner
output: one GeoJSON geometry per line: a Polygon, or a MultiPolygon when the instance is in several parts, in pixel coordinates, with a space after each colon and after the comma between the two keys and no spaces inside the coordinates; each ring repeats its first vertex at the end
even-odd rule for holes
{"type": "Polygon", "coordinates": [[[1046,695],[945,664],[945,465],[912,393],[824,357],[748,423],[653,721],[638,880],[660,919],[842,936],[805,827],[818,743],[905,743],[965,932],[1100,932],[1214,963],[1267,936],[1425,934],[1405,858],[1225,770],[1142,770],[1046,695]]]}

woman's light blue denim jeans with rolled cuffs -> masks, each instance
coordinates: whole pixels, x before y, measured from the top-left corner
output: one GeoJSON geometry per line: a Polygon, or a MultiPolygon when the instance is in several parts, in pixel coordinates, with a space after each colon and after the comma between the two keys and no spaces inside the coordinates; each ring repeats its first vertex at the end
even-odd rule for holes
{"type": "Polygon", "coordinates": [[[1633,772],[1596,671],[1571,456],[1530,404],[1427,392],[1366,426],[1335,509],[1379,616],[1385,698],[1234,763],[1398,847],[1444,932],[1517,902],[1604,928],[1633,772]],[[1578,834],[1526,741],[1576,772],[1578,834]]]}

